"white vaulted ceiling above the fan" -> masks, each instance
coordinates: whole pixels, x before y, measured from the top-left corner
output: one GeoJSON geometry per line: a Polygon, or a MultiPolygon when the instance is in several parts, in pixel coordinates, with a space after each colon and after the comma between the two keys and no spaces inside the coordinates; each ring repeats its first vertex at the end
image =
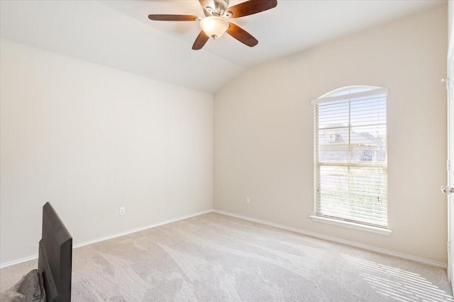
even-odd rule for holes
{"type": "MultiPolygon", "coordinates": [[[[244,1],[244,0],[243,0],[244,1]]],[[[230,1],[230,6],[243,1],[230,1]]],[[[150,13],[203,16],[197,0],[0,1],[0,36],[88,62],[215,93],[250,66],[446,3],[446,0],[277,0],[232,19],[259,40],[229,35],[192,44],[197,22],[150,21],[150,13]]]]}

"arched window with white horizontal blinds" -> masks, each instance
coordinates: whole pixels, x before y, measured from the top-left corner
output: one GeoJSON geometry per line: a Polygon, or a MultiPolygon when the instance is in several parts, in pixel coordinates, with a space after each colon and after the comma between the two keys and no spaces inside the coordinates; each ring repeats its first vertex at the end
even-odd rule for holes
{"type": "Polygon", "coordinates": [[[386,98],[354,86],[311,101],[316,216],[387,228],[386,98]]]}

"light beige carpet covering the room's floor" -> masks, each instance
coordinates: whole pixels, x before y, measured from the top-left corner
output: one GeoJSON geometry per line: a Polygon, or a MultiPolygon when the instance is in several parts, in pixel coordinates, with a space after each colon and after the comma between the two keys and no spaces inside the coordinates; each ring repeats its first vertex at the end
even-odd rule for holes
{"type": "Polygon", "coordinates": [[[445,269],[210,213],[74,249],[72,301],[454,299],[445,269]]]}

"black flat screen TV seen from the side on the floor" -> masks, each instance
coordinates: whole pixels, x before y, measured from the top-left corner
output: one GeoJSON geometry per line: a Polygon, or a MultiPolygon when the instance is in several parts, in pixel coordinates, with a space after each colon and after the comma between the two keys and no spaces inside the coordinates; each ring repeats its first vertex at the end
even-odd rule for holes
{"type": "Polygon", "coordinates": [[[72,237],[49,202],[43,206],[38,272],[48,302],[71,301],[72,237]]]}

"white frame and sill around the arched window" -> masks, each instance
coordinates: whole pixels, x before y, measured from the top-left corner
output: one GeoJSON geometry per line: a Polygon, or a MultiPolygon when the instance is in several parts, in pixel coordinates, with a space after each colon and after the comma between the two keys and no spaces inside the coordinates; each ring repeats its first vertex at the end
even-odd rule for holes
{"type": "MultiPolygon", "coordinates": [[[[355,229],[360,229],[363,231],[370,231],[372,233],[379,233],[383,235],[389,235],[391,233],[391,230],[388,228],[388,224],[386,223],[385,226],[374,226],[370,225],[369,223],[363,223],[361,221],[355,221],[355,220],[345,220],[336,216],[324,216],[321,214],[317,213],[317,202],[318,202],[318,188],[319,188],[319,183],[317,178],[317,173],[319,173],[319,169],[321,166],[321,163],[319,163],[319,154],[318,154],[318,144],[319,144],[319,121],[318,119],[318,105],[319,104],[326,104],[330,102],[335,102],[335,101],[340,101],[340,100],[345,100],[346,98],[352,99],[352,98],[360,98],[360,97],[367,97],[370,95],[380,95],[380,94],[385,94],[387,98],[387,88],[379,88],[379,87],[373,87],[373,86],[349,86],[349,87],[344,87],[344,88],[339,88],[336,89],[336,91],[331,91],[330,93],[326,93],[325,95],[322,95],[320,98],[317,98],[315,100],[311,100],[311,105],[314,105],[314,215],[311,215],[311,219],[314,221],[318,222],[323,222],[323,223],[329,223],[333,224],[336,226],[344,226],[348,228],[355,228],[355,229]],[[359,91],[359,92],[353,92],[351,91],[359,91]]],[[[387,102],[387,100],[386,100],[387,102]]],[[[350,122],[349,122],[350,123],[350,122]]],[[[350,128],[350,125],[348,126],[350,128]]],[[[386,138],[385,138],[386,140],[386,138]]],[[[349,142],[350,144],[350,142],[349,142]]],[[[387,151],[387,143],[385,144],[385,153],[387,151]]],[[[386,155],[387,158],[387,155],[386,155]]],[[[342,165],[345,166],[345,163],[342,165]]],[[[354,165],[358,165],[358,163],[355,163],[354,165]]],[[[367,163],[364,165],[365,167],[367,166],[367,163]]],[[[386,171],[387,170],[387,159],[383,163],[383,169],[386,171]]],[[[386,175],[387,178],[387,175],[386,175]]],[[[386,213],[387,215],[387,213],[386,213]]]]}

